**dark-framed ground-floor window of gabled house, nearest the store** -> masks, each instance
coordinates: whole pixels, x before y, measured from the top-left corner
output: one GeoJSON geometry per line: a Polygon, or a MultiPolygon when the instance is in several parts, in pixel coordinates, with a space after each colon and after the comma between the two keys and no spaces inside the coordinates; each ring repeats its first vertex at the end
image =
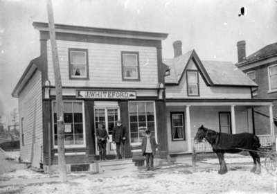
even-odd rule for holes
{"type": "Polygon", "coordinates": [[[172,141],[185,140],[184,112],[171,113],[172,141]]]}

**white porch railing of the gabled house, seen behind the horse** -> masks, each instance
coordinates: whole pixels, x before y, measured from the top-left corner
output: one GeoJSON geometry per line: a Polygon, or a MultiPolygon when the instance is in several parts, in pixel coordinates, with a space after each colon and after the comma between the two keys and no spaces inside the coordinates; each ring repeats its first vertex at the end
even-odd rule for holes
{"type": "MultiPolygon", "coordinates": [[[[271,138],[270,134],[260,134],[257,136],[260,139],[260,145],[262,145],[262,146],[272,145],[273,142],[272,142],[272,138],[271,138]]],[[[194,145],[196,152],[212,152],[213,151],[210,143],[208,143],[206,141],[201,142],[201,143],[195,143],[193,141],[193,145],[194,145]]]]}

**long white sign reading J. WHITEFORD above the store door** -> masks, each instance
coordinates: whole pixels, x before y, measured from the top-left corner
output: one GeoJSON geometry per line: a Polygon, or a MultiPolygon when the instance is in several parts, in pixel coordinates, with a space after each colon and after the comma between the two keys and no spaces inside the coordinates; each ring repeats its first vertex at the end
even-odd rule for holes
{"type": "Polygon", "coordinates": [[[136,91],[78,90],[76,98],[136,99],[136,91]]]}

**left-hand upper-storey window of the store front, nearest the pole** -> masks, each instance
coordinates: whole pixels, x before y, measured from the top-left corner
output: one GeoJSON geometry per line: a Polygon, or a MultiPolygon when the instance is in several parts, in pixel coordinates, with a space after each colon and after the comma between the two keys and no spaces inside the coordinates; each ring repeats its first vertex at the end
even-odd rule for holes
{"type": "Polygon", "coordinates": [[[89,79],[87,49],[69,48],[69,78],[89,79]]]}

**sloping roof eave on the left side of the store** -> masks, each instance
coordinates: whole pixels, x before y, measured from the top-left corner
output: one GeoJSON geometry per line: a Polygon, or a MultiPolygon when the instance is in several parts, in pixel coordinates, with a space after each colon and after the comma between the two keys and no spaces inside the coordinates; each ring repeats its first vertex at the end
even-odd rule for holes
{"type": "Polygon", "coordinates": [[[21,78],[17,82],[17,85],[15,86],[15,89],[12,91],[12,97],[18,98],[21,90],[25,87],[25,85],[28,83],[28,80],[33,76],[33,73],[37,70],[37,61],[38,58],[35,58],[30,61],[28,64],[28,67],[26,67],[24,73],[22,74],[21,78]]]}

